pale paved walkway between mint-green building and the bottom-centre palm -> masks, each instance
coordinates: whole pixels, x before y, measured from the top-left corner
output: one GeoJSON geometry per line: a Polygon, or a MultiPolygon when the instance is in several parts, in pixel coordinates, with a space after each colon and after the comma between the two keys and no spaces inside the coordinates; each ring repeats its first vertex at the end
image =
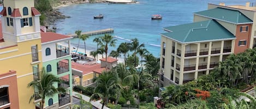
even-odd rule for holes
{"type": "MultiPolygon", "coordinates": [[[[76,94],[80,94],[80,93],[77,93],[77,92],[74,92],[73,91],[73,96],[77,97],[76,94]]],[[[96,108],[102,108],[102,104],[100,104],[100,101],[101,100],[98,100],[98,101],[90,101],[90,97],[87,97],[86,95],[83,95],[83,94],[80,94],[82,96],[82,99],[84,99],[85,101],[87,102],[91,102],[92,106],[96,107],[96,108]]],[[[104,106],[104,109],[110,109],[106,106],[104,106]]]]}

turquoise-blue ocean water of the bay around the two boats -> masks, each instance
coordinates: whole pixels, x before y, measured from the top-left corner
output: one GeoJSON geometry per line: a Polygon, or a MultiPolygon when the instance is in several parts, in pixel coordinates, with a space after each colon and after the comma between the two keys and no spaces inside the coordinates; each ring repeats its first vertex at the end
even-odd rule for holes
{"type": "MultiPolygon", "coordinates": [[[[124,39],[137,38],[140,43],[144,43],[146,49],[154,56],[159,57],[160,33],[166,33],[164,27],[192,23],[193,13],[207,10],[207,4],[218,4],[225,2],[226,5],[241,4],[245,5],[248,0],[139,0],[139,4],[74,4],[68,7],[59,8],[64,15],[70,16],[63,20],[58,20],[55,24],[56,32],[61,34],[73,34],[76,30],[92,31],[106,28],[113,28],[113,36],[123,37],[124,39]],[[93,16],[103,14],[103,19],[93,19],[93,16]],[[163,20],[151,20],[151,15],[160,14],[163,20]]],[[[98,36],[90,36],[86,40],[86,50],[96,50],[97,43],[93,39],[98,36]]],[[[126,40],[117,39],[118,45],[126,40]]],[[[78,44],[78,39],[72,39],[73,46],[78,44]]],[[[81,41],[81,46],[84,43],[81,41]]]]}

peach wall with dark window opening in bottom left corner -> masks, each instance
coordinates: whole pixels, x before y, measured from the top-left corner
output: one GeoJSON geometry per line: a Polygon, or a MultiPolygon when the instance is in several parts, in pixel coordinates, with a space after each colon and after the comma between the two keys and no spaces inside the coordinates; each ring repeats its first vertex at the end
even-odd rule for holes
{"type": "MultiPolygon", "coordinates": [[[[9,102],[10,102],[10,108],[15,108],[15,109],[19,109],[19,97],[18,97],[18,88],[17,88],[17,76],[14,75],[16,74],[16,71],[11,70],[8,73],[4,73],[0,75],[0,86],[3,85],[9,85],[8,87],[8,93],[9,93],[9,102]],[[13,75],[13,76],[9,76],[9,75],[13,75]],[[6,76],[9,76],[8,78],[4,78],[6,76]]],[[[8,106],[7,106],[8,107],[8,106]]],[[[6,108],[6,107],[3,107],[6,108]]],[[[0,109],[3,109],[0,108],[0,109]]]]}

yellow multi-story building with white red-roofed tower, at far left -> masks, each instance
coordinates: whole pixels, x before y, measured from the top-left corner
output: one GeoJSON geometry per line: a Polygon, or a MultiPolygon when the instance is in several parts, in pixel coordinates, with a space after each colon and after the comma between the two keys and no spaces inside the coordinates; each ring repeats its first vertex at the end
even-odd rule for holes
{"type": "Polygon", "coordinates": [[[40,13],[33,0],[9,0],[0,15],[0,108],[35,108],[27,85],[42,67],[40,13]]]}

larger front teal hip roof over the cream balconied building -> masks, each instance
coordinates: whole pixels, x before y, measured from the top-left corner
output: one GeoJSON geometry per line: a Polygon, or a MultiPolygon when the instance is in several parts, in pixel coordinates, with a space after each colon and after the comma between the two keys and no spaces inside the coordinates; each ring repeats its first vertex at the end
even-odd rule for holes
{"type": "Polygon", "coordinates": [[[171,32],[162,33],[162,35],[181,43],[235,39],[233,34],[215,20],[175,25],[164,29],[171,32]]]}

